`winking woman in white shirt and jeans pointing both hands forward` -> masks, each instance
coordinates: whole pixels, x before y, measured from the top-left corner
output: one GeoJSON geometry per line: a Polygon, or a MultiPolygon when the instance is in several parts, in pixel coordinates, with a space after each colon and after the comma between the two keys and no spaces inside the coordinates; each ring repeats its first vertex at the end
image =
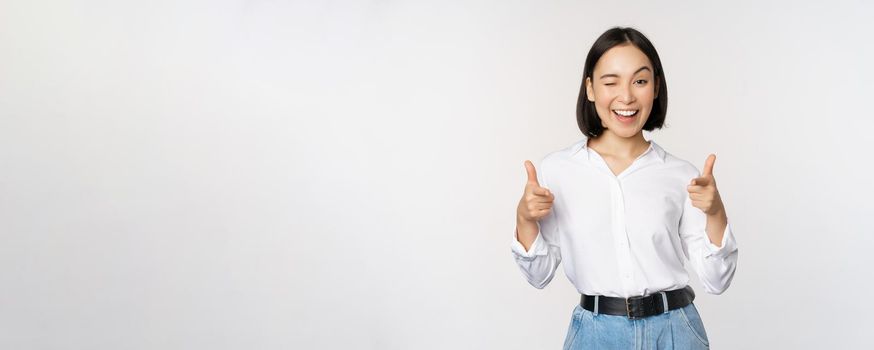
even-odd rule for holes
{"type": "Polygon", "coordinates": [[[709,341],[684,267],[704,290],[724,292],[737,247],[716,182],[643,130],[661,128],[667,85],[652,43],[612,28],[592,45],[577,103],[583,138],[525,161],[513,256],[545,287],[564,260],[580,292],[565,349],[706,349],[709,341]]]}

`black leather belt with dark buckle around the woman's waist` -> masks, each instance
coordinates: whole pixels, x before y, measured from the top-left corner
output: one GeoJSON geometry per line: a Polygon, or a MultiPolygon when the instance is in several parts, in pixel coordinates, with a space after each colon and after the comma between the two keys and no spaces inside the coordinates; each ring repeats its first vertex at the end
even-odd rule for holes
{"type": "Polygon", "coordinates": [[[692,290],[692,287],[686,286],[682,289],[631,298],[581,294],[580,306],[594,313],[621,315],[628,316],[630,319],[639,319],[685,307],[691,304],[692,300],[695,300],[695,291],[692,290]],[[597,311],[595,309],[596,299],[598,300],[597,311]],[[666,306],[667,309],[665,309],[666,306]]]}

